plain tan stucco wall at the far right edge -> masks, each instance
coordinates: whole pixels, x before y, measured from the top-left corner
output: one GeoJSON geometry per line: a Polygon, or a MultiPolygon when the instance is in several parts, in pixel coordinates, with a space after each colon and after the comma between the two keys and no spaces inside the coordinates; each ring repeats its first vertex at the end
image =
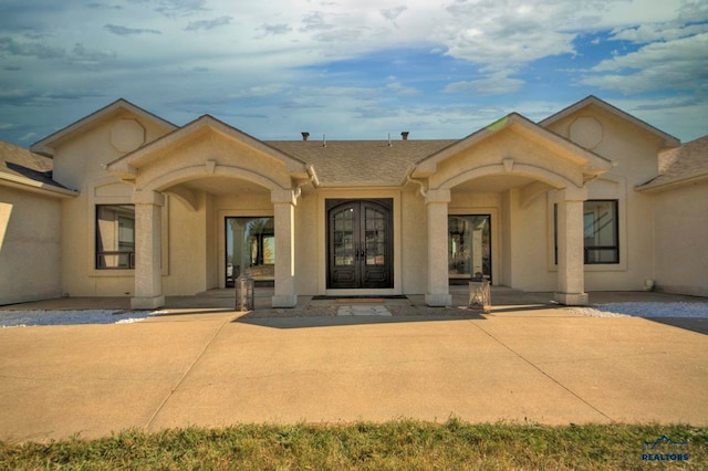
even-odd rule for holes
{"type": "Polygon", "coordinates": [[[708,296],[708,184],[654,193],[656,289],[708,296]]]}

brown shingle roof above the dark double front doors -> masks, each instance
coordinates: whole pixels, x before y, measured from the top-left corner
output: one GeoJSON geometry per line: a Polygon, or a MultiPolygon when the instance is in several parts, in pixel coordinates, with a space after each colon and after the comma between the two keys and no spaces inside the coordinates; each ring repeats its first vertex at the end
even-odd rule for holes
{"type": "Polygon", "coordinates": [[[408,167],[456,143],[437,140],[269,140],[271,147],[312,165],[323,186],[398,185],[408,167]]]}

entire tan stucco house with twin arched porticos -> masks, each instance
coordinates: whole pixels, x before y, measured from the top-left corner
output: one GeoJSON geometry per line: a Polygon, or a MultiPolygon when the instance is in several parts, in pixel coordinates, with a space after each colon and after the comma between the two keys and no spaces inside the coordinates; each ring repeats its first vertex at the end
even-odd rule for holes
{"type": "Polygon", "coordinates": [[[209,115],[176,126],[125,100],[23,149],[0,144],[0,304],[166,295],[249,272],[298,295],[450,283],[708,296],[708,136],[675,137],[594,96],[462,139],[263,142],[209,115]]]}

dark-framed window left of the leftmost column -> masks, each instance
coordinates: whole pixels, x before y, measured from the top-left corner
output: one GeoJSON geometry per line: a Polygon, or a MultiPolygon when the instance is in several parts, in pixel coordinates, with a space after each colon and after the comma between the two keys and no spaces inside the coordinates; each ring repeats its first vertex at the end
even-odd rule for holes
{"type": "Polygon", "coordinates": [[[135,268],[135,207],[96,207],[96,269],[135,268]]]}

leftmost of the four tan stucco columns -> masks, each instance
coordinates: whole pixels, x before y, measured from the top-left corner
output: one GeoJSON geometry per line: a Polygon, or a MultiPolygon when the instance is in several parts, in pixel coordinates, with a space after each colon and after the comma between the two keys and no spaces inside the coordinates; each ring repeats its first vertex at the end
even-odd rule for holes
{"type": "Polygon", "coordinates": [[[162,207],[165,197],[156,191],[136,190],[135,205],[135,296],[134,310],[152,310],[165,305],[162,270],[162,207]]]}

